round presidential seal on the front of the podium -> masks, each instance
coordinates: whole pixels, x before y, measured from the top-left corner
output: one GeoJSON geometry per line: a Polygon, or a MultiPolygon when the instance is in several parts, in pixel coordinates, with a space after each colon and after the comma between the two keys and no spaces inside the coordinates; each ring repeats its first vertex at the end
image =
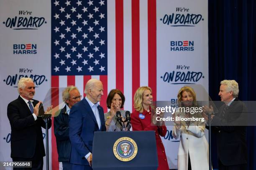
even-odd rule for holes
{"type": "Polygon", "coordinates": [[[122,137],[115,141],[113,146],[115,158],[120,161],[130,161],[136,157],[138,147],[132,138],[122,137]]]}

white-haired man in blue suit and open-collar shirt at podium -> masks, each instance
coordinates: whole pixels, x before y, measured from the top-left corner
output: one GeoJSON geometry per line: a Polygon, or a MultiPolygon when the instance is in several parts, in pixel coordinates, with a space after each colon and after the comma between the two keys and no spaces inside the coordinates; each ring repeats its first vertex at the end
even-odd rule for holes
{"type": "Polygon", "coordinates": [[[103,95],[102,82],[96,79],[89,80],[84,93],[86,97],[77,102],[69,114],[72,170],[92,170],[94,132],[106,131],[103,108],[99,105],[103,95]]]}

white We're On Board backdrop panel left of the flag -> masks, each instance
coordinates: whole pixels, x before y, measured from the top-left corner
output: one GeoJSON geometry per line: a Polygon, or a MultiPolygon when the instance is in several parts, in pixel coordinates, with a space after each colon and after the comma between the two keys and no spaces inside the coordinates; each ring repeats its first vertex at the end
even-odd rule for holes
{"type": "MultiPolygon", "coordinates": [[[[9,135],[11,130],[7,105],[18,97],[19,77],[28,76],[35,80],[37,100],[43,100],[50,88],[51,13],[49,11],[51,11],[49,0],[0,0],[1,161],[11,160],[9,135]],[[38,22],[28,24],[31,18],[38,22]],[[11,20],[13,24],[10,24],[11,20]]],[[[45,130],[43,133],[45,134],[45,130]]],[[[50,130],[49,136],[51,136],[50,130]]]]}

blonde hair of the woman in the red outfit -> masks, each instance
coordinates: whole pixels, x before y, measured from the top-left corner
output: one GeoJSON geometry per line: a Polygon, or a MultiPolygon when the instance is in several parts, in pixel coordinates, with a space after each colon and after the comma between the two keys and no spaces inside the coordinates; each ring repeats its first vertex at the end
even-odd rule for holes
{"type": "Polygon", "coordinates": [[[150,92],[152,92],[152,89],[148,86],[138,87],[138,89],[135,92],[133,100],[134,100],[134,108],[137,112],[143,112],[143,106],[142,106],[143,92],[145,92],[146,90],[150,90],[150,92]]]}

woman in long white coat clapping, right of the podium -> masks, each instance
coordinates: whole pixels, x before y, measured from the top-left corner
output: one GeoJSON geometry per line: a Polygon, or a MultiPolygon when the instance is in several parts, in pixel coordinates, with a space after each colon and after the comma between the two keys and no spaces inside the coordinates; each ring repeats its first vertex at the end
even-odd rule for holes
{"type": "MultiPolygon", "coordinates": [[[[182,87],[177,95],[179,107],[196,107],[195,91],[191,87],[182,87]]],[[[180,117],[199,117],[200,112],[175,112],[180,117]],[[183,115],[183,116],[182,116],[183,115]]],[[[174,121],[172,135],[180,137],[178,153],[178,170],[207,170],[209,169],[208,143],[205,138],[205,122],[174,121]]]]}

